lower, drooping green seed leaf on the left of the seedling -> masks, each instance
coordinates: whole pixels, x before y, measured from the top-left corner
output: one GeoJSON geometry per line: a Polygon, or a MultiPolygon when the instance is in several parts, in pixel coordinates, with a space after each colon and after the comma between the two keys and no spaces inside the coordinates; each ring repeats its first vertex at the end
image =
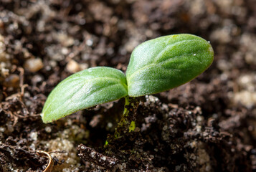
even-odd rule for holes
{"type": "Polygon", "coordinates": [[[127,95],[125,75],[110,67],[93,67],[67,77],[52,90],[42,110],[42,120],[50,123],[101,103],[127,95]]]}

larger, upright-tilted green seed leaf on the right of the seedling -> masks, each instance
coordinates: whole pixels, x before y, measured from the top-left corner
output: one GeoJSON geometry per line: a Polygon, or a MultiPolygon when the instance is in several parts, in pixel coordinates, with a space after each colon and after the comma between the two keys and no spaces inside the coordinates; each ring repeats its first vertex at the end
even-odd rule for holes
{"type": "Polygon", "coordinates": [[[183,85],[207,70],[213,58],[209,42],[191,34],[144,42],[131,54],[126,72],[128,95],[151,95],[183,85]]]}

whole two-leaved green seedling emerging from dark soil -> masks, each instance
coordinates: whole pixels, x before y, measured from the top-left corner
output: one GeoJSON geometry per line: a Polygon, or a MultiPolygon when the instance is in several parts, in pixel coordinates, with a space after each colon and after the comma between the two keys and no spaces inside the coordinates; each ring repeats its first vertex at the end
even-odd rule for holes
{"type": "MultiPolygon", "coordinates": [[[[50,123],[85,108],[125,97],[123,116],[133,97],[151,95],[183,85],[212,64],[211,44],[191,34],[174,34],[143,42],[133,50],[126,75],[111,67],[77,72],[52,90],[42,110],[50,123]]],[[[128,123],[129,131],[135,122],[128,123]]]]}

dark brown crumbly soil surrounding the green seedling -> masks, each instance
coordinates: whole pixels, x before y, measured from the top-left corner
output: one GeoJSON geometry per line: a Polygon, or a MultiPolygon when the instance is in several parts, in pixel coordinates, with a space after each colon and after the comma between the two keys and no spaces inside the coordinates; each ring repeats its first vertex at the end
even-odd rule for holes
{"type": "Polygon", "coordinates": [[[255,21],[254,0],[0,1],[0,171],[256,171],[255,21]],[[125,71],[138,44],[179,33],[209,40],[214,62],[140,97],[133,132],[105,146],[124,100],[42,123],[65,77],[125,71]]]}

